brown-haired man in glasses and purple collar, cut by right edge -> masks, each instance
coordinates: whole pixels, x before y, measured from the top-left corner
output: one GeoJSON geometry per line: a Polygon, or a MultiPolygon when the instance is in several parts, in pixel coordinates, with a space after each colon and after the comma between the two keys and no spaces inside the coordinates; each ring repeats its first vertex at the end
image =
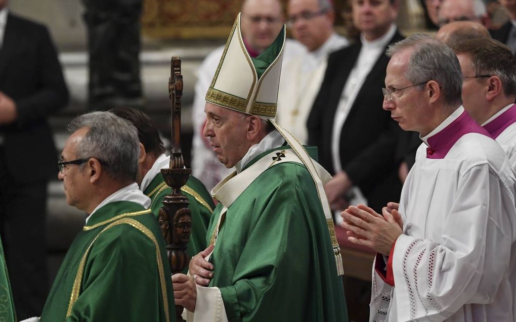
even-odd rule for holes
{"type": "MultiPolygon", "coordinates": [[[[462,69],[462,101],[474,120],[504,149],[516,172],[516,58],[506,45],[493,39],[472,39],[453,47],[462,69]]],[[[513,218],[514,219],[514,218],[513,218]]],[[[513,231],[513,244],[516,232],[513,231]]],[[[516,298],[516,247],[512,247],[509,272],[516,298]]],[[[513,301],[513,318],[516,303],[513,301]]]]}

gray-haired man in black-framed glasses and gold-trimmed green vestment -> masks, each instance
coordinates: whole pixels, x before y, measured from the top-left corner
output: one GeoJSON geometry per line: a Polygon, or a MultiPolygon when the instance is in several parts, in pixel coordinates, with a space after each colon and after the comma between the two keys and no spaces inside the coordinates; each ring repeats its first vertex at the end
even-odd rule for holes
{"type": "Polygon", "coordinates": [[[89,216],[40,321],[175,321],[165,241],[135,182],[136,128],[110,112],[75,118],[59,165],[70,206],[89,216]]]}

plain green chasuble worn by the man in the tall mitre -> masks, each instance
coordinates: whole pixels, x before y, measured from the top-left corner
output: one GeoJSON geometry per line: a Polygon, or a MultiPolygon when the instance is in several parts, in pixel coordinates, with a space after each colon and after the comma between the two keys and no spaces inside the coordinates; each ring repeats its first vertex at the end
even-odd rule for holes
{"type": "MultiPolygon", "coordinates": [[[[279,150],[294,154],[289,146],[268,150],[239,175],[279,150]]],[[[345,322],[342,278],[337,276],[316,185],[303,164],[275,164],[273,160],[282,157],[278,152],[279,158],[270,159],[271,166],[221,219],[210,258],[214,277],[209,286],[220,289],[229,321],[345,322]]],[[[222,208],[219,202],[208,228],[208,243],[215,238],[222,208]]]]}

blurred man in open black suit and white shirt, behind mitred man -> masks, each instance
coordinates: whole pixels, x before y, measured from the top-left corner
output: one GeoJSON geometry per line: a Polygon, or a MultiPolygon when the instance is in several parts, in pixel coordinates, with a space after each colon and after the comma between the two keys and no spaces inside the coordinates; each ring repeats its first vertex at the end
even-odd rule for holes
{"type": "Polygon", "coordinates": [[[319,147],[319,162],[333,175],[325,190],[335,211],[359,191],[378,211],[399,199],[395,158],[401,132],[382,109],[385,48],[402,39],[394,24],[397,8],[397,0],[352,1],[360,41],[330,55],[307,123],[309,144],[319,147]]]}

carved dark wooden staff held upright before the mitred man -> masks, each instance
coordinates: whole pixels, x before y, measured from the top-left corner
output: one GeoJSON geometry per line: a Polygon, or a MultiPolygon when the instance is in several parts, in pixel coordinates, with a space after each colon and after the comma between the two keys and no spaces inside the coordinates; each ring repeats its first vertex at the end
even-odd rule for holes
{"type": "MultiPolygon", "coordinates": [[[[163,199],[163,207],[159,209],[159,223],[162,225],[167,256],[172,274],[180,273],[188,265],[187,253],[190,237],[191,214],[188,209],[188,198],[181,193],[191,170],[184,168],[181,152],[181,96],[183,95],[183,76],[181,75],[181,58],[174,56],[170,62],[170,78],[168,91],[171,107],[172,148],[168,169],[161,173],[167,185],[172,188],[163,199]]],[[[183,308],[176,306],[176,315],[181,320],[183,308]]]]}

